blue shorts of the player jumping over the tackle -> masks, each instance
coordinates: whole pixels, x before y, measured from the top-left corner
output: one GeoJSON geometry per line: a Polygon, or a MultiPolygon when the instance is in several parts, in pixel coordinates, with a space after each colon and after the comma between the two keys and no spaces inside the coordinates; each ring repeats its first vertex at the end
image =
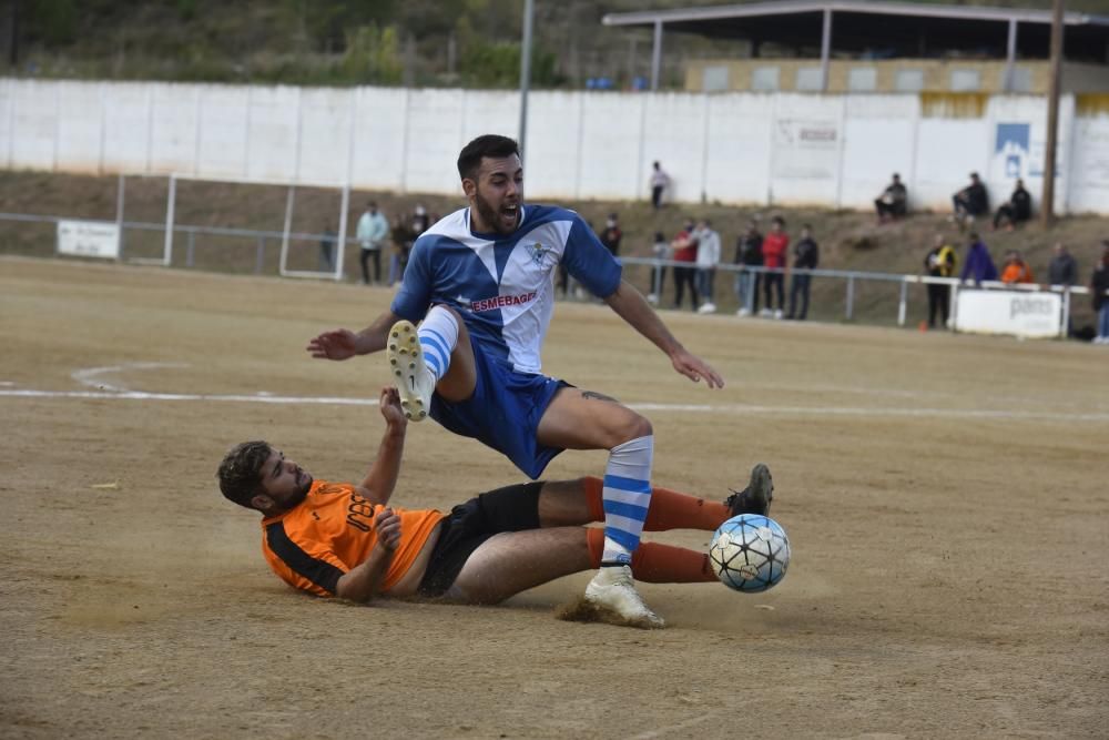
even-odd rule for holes
{"type": "Polygon", "coordinates": [[[455,434],[472,437],[503,454],[532,480],[562,452],[536,439],[539,419],[551,399],[569,383],[546,375],[518,373],[486,354],[472,336],[477,382],[474,395],[451,403],[431,396],[431,418],[455,434]]]}

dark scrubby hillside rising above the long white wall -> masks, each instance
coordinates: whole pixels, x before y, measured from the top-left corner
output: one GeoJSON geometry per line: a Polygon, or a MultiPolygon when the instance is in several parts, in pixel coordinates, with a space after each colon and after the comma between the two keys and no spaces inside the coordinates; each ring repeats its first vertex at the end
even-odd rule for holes
{"type": "MultiPolygon", "coordinates": [[[[608,12],[736,0],[536,0],[533,83],[620,87],[650,74],[651,36],[601,26],[608,12]]],[[[933,0],[937,4],[938,0],[933,0]]],[[[1044,9],[1046,0],[938,4],[1044,9]]],[[[8,74],[114,80],[511,88],[519,80],[520,0],[0,1],[8,74]]],[[[1109,0],[1068,0],[1109,14],[1109,0]]],[[[671,36],[663,83],[685,59],[733,53],[726,41],[671,36]],[[676,41],[674,40],[676,39],[676,41]]]]}

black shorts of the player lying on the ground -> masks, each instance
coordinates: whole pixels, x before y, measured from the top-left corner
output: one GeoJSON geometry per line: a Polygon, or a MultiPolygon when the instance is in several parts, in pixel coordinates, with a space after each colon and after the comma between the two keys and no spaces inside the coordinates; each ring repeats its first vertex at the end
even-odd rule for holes
{"type": "Polygon", "coordinates": [[[440,525],[439,540],[416,592],[427,597],[446,594],[474,550],[494,535],[538,529],[542,485],[537,480],[505,486],[452,508],[440,525]]]}

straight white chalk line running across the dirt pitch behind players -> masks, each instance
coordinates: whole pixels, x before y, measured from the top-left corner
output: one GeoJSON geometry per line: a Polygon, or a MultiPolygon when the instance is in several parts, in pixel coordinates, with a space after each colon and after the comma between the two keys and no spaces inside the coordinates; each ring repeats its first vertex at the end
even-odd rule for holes
{"type": "MultiPolygon", "coordinates": [[[[340,398],[337,396],[260,396],[246,394],[143,393],[128,391],[0,391],[7,398],[95,398],[111,401],[207,401],[306,406],[377,406],[376,398],[340,398]]],[[[686,414],[732,414],[754,416],[904,416],[957,419],[1005,419],[1027,422],[1109,422],[1109,413],[1059,414],[1054,412],[989,410],[967,408],[882,408],[865,406],[756,406],[747,404],[628,404],[644,412],[679,412],[686,414]]]]}

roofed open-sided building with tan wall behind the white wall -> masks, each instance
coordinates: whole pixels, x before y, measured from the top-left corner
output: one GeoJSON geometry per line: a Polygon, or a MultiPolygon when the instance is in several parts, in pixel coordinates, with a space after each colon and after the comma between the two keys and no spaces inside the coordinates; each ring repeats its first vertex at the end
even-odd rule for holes
{"type": "MultiPolygon", "coordinates": [[[[1047,92],[1051,12],[863,0],[785,0],[609,13],[651,29],[652,89],[667,32],[741,42],[740,55],[692,60],[694,92],[1047,92]]],[[[1062,89],[1109,91],[1109,16],[1064,16],[1062,89]]]]}

